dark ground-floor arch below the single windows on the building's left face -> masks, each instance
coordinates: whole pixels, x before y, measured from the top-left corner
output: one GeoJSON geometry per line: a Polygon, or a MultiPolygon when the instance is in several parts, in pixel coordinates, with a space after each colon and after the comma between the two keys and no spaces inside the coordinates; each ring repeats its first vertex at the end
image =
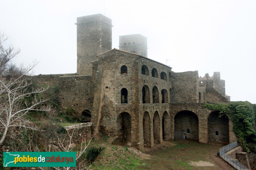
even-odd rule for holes
{"type": "Polygon", "coordinates": [[[132,117],[129,113],[123,112],[116,119],[117,136],[115,144],[131,146],[132,117]]]}

